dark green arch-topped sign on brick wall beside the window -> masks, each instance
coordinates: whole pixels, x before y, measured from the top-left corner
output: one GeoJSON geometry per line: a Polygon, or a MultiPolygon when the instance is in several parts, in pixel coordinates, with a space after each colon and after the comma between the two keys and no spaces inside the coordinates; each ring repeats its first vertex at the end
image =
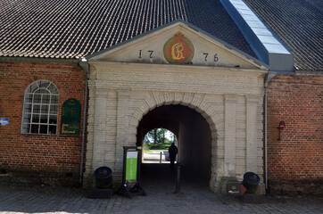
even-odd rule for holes
{"type": "Polygon", "coordinates": [[[61,135],[79,136],[81,105],[76,99],[62,104],[61,135]]]}

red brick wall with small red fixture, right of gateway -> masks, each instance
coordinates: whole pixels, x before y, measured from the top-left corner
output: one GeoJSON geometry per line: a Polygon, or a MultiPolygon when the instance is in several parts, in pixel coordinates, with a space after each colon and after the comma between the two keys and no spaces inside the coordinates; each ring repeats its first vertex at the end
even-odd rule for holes
{"type": "Polygon", "coordinates": [[[279,75],[268,95],[270,191],[322,194],[323,77],[279,75]]]}

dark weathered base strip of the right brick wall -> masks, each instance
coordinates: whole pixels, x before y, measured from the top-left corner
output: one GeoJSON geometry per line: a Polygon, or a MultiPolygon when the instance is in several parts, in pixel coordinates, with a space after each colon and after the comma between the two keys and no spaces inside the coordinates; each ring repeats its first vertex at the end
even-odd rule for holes
{"type": "Polygon", "coordinates": [[[269,180],[269,193],[323,196],[323,179],[269,180]]]}

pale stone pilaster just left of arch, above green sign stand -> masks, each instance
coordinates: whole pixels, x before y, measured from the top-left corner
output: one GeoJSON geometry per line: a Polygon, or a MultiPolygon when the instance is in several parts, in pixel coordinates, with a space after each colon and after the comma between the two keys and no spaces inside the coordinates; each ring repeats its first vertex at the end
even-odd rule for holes
{"type": "MultiPolygon", "coordinates": [[[[123,167],[123,146],[128,144],[129,133],[129,90],[118,90],[117,139],[115,154],[115,180],[121,181],[123,167]]],[[[135,142],[136,143],[136,142],[135,142]]],[[[136,145],[136,144],[132,144],[136,145]]]]}

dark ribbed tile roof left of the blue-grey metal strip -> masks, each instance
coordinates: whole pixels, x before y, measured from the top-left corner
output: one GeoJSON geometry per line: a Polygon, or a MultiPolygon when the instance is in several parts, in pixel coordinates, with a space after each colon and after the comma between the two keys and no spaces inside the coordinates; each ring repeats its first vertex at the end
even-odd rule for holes
{"type": "Polygon", "coordinates": [[[255,56],[219,0],[0,0],[0,56],[79,59],[178,19],[255,56]]]}

